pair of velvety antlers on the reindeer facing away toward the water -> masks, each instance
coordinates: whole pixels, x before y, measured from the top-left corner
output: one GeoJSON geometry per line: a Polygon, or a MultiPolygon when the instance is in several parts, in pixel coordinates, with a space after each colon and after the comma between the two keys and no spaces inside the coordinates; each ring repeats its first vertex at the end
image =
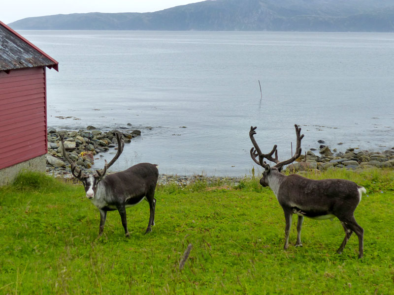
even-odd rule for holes
{"type": "Polygon", "coordinates": [[[256,134],[255,130],[257,127],[251,126],[250,131],[249,131],[249,137],[250,137],[250,140],[252,141],[254,148],[252,148],[250,150],[250,155],[251,155],[253,161],[255,161],[256,164],[265,168],[267,166],[267,164],[263,161],[265,158],[268,161],[276,163],[276,165],[274,167],[278,168],[280,171],[284,165],[290,164],[294,160],[296,160],[296,158],[298,158],[301,155],[301,140],[304,137],[304,135],[303,134],[300,135],[301,128],[298,128],[297,124],[295,124],[294,126],[296,127],[296,136],[297,136],[296,153],[290,159],[288,159],[286,161],[282,161],[282,162],[279,162],[279,160],[278,160],[278,150],[276,149],[276,147],[277,147],[276,145],[272,148],[271,152],[269,152],[267,154],[262,153],[262,151],[260,150],[259,146],[256,143],[255,138],[253,137],[253,135],[256,134]],[[275,158],[272,157],[272,154],[274,152],[275,152],[275,158]],[[259,156],[259,161],[256,159],[257,156],[259,156]]]}

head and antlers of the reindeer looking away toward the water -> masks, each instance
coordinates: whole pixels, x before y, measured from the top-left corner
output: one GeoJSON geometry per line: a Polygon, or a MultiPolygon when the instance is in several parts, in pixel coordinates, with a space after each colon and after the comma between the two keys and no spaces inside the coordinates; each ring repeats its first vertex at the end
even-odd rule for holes
{"type": "Polygon", "coordinates": [[[304,137],[304,135],[303,134],[300,135],[301,128],[299,128],[297,125],[294,126],[296,127],[296,136],[297,136],[296,153],[290,159],[282,162],[279,162],[278,160],[278,150],[276,149],[277,147],[276,145],[274,145],[274,147],[269,153],[267,154],[262,153],[261,149],[259,148],[259,145],[257,144],[255,138],[253,137],[256,134],[255,130],[257,127],[253,127],[253,126],[250,127],[249,137],[254,146],[254,148],[251,148],[250,150],[250,156],[252,157],[253,161],[255,161],[256,164],[264,168],[263,177],[260,179],[260,184],[262,186],[268,186],[269,177],[271,175],[280,173],[283,166],[292,163],[294,160],[296,160],[296,158],[298,158],[301,155],[301,140],[304,137]],[[275,153],[275,158],[272,157],[273,153],[275,153]],[[259,160],[257,160],[258,156],[259,156],[259,160]],[[264,158],[267,159],[268,161],[276,163],[276,165],[270,167],[264,161],[264,158]]]}

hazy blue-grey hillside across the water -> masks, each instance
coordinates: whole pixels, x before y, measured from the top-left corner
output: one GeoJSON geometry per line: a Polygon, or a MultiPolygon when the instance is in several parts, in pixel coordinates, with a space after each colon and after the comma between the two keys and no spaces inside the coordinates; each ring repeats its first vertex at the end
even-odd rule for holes
{"type": "Polygon", "coordinates": [[[147,13],[25,18],[13,29],[394,31],[394,0],[208,0],[147,13]]]}

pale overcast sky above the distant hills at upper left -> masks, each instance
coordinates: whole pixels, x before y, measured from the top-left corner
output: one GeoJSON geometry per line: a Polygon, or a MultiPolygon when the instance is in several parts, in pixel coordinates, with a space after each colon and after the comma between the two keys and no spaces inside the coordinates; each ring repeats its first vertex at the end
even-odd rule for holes
{"type": "Polygon", "coordinates": [[[153,12],[202,0],[4,0],[0,21],[11,22],[32,16],[86,12],[153,12]]]}

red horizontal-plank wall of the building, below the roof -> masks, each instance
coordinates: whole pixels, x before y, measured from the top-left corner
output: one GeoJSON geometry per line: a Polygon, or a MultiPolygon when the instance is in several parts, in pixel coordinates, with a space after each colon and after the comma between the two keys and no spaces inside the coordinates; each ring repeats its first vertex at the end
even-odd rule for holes
{"type": "Polygon", "coordinates": [[[0,169],[47,152],[45,68],[0,71],[0,169]]]}

